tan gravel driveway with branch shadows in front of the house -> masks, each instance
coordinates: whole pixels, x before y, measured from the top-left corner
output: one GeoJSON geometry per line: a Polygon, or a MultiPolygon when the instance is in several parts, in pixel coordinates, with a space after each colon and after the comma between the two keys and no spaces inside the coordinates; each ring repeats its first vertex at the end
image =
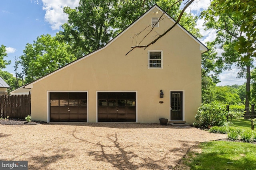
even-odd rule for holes
{"type": "Polygon", "coordinates": [[[0,124],[0,160],[35,170],[168,170],[192,146],[225,137],[160,124],[0,124]]]}

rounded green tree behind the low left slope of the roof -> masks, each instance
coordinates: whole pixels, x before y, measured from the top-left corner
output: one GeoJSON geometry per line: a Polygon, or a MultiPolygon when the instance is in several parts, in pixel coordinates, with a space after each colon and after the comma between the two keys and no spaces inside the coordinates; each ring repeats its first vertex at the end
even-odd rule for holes
{"type": "Polygon", "coordinates": [[[32,82],[74,61],[76,57],[68,49],[70,45],[49,34],[37,37],[33,44],[28,43],[24,55],[20,56],[25,82],[32,82]]]}

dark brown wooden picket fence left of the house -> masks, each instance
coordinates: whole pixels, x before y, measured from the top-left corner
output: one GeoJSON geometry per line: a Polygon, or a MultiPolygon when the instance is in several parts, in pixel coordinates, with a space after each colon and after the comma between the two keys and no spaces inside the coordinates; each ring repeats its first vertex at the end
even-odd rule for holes
{"type": "Polygon", "coordinates": [[[30,94],[26,95],[1,95],[0,96],[0,117],[24,119],[31,115],[30,94]]]}

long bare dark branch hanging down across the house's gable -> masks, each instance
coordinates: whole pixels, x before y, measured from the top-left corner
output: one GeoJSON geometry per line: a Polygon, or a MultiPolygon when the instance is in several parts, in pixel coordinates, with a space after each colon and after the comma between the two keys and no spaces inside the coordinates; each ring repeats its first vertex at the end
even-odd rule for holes
{"type": "MultiPolygon", "coordinates": [[[[176,3],[178,3],[178,2],[180,2],[180,1],[183,1],[183,0],[178,0],[176,3]]],[[[148,45],[137,45],[137,46],[133,46],[132,47],[132,49],[128,52],[128,53],[130,53],[132,50],[134,50],[134,49],[136,49],[136,48],[144,48],[144,49],[146,49],[147,47],[149,47],[150,45],[152,45],[152,44],[154,44],[156,41],[158,41],[158,39],[160,39],[161,37],[163,37],[164,35],[166,35],[166,33],[168,33],[170,30],[172,30],[179,22],[180,22],[180,19],[181,19],[181,17],[182,17],[182,15],[183,15],[183,13],[185,12],[185,10],[188,8],[188,6],[190,6],[191,4],[192,4],[192,2],[194,2],[194,0],[190,0],[190,1],[188,1],[187,2],[187,4],[184,6],[184,8],[182,9],[182,11],[180,12],[180,15],[179,15],[179,17],[178,17],[178,19],[176,20],[176,22],[169,28],[169,29],[167,29],[162,35],[159,35],[159,37],[157,37],[154,41],[152,41],[152,42],[150,42],[150,43],[148,43],[148,45]]],[[[175,4],[176,4],[175,3],[175,4]]],[[[172,5],[173,6],[173,5],[172,5]]],[[[168,10],[169,10],[170,8],[168,8],[168,10]]],[[[168,11],[168,10],[166,10],[166,11],[168,11]]],[[[163,14],[162,14],[162,16],[165,14],[166,12],[164,12],[163,14]]],[[[161,16],[161,17],[162,17],[161,16]]],[[[159,18],[159,20],[160,20],[160,18],[159,18]]],[[[158,21],[159,21],[158,20],[158,21]]],[[[155,25],[154,25],[155,26],[155,25]]],[[[154,28],[154,27],[153,27],[154,28]]],[[[152,29],[153,29],[152,28],[152,29]]],[[[151,30],[152,31],[152,30],[151,30]]],[[[150,32],[151,32],[150,31],[150,32]]],[[[149,34],[149,33],[148,33],[149,34]]],[[[148,35],[147,34],[147,35],[148,35]]],[[[146,35],[146,36],[147,36],[146,35]]],[[[145,36],[145,37],[146,37],[145,36]]],[[[144,37],[144,38],[145,38],[144,37]]],[[[126,55],[128,55],[128,53],[126,53],[126,55]]]]}

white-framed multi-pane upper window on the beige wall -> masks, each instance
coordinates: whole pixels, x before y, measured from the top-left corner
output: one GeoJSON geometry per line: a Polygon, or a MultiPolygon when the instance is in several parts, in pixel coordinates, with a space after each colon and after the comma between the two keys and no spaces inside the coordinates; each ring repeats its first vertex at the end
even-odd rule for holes
{"type": "Polygon", "coordinates": [[[163,67],[163,51],[148,51],[148,68],[163,67]]]}

